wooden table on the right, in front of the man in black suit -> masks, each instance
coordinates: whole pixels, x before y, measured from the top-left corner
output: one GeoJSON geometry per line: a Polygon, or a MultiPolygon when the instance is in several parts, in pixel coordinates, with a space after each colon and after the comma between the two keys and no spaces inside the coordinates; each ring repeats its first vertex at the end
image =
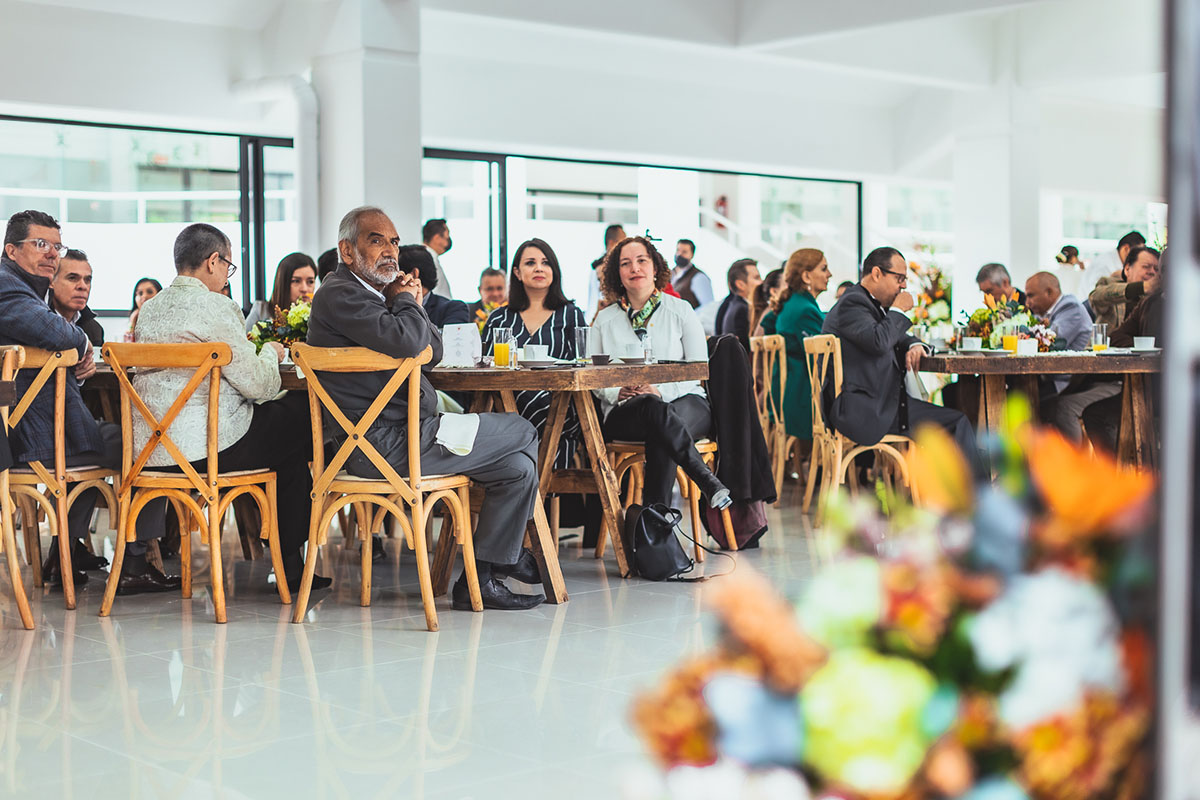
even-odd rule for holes
{"type": "Polygon", "coordinates": [[[1063,374],[1121,375],[1121,435],[1117,457],[1138,467],[1154,461],[1153,405],[1147,391],[1148,374],[1162,372],[1157,353],[1097,355],[1094,353],[1045,353],[1040,355],[977,355],[970,353],[924,356],[922,372],[979,375],[979,429],[996,431],[1003,415],[1006,386],[1012,381],[1038,405],[1038,378],[1063,374]]]}

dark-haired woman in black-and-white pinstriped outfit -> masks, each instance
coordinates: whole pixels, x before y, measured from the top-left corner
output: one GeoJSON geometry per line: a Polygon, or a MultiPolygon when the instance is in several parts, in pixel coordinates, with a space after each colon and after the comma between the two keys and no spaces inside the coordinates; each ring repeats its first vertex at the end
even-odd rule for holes
{"type": "MultiPolygon", "coordinates": [[[[563,272],[558,257],[540,239],[522,242],[512,259],[509,305],[493,311],[484,325],[484,351],[498,329],[510,329],[516,347],[545,344],[552,359],[575,357],[575,329],[583,327],[583,312],[563,294],[563,272]]],[[[550,392],[516,393],[517,411],[545,433],[550,416],[550,392]]],[[[580,441],[580,421],[574,408],[566,411],[563,438],[554,456],[554,469],[568,469],[580,441]]]]}

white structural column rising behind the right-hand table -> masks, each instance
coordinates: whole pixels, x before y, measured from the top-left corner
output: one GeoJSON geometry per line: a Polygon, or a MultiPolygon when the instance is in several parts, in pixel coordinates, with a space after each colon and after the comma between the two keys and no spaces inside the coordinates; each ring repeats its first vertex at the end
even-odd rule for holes
{"type": "Polygon", "coordinates": [[[1038,101],[1016,83],[1012,24],[997,35],[996,85],[955,98],[955,319],[982,302],[974,276],[984,264],[1007,266],[1016,287],[1040,269],[1038,101]]]}

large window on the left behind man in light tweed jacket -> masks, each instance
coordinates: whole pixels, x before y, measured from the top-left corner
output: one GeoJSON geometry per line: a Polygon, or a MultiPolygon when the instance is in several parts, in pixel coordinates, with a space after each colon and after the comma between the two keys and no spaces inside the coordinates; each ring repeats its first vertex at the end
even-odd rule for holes
{"type": "Polygon", "coordinates": [[[88,253],[89,305],[110,337],[124,331],[140,277],[169,283],[175,236],[220,228],[242,267],[233,297],[270,293],[296,248],[290,140],[0,118],[0,215],[46,211],[62,241],[88,253]]]}

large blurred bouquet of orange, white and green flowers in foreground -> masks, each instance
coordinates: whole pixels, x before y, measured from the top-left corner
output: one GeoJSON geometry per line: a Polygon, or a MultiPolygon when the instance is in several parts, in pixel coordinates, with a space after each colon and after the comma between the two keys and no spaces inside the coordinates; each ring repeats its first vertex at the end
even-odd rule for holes
{"type": "Polygon", "coordinates": [[[833,501],[794,606],[745,565],[707,588],[720,643],[637,700],[667,771],[628,795],[1144,796],[1153,477],[1028,420],[1014,396],[991,486],[918,432],[923,507],[833,501]]]}

